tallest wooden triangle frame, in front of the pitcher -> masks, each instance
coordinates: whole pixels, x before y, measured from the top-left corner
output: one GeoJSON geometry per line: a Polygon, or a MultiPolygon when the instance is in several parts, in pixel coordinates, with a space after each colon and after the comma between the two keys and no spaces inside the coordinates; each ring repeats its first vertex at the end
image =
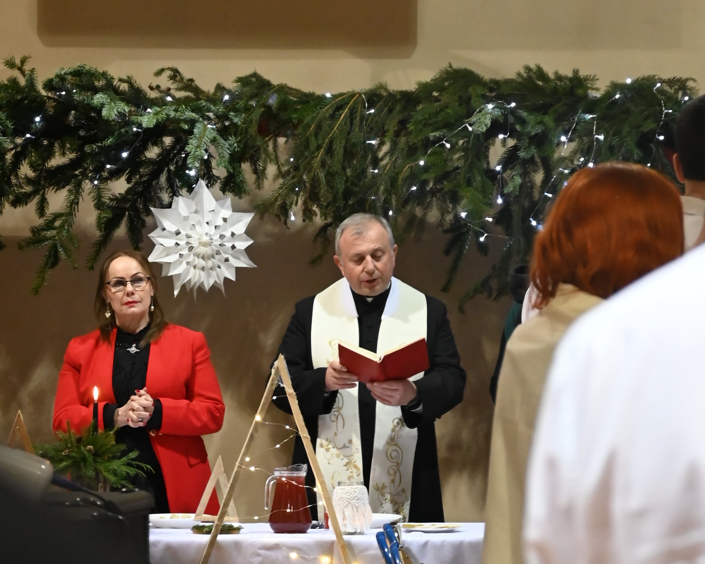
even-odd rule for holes
{"type": "Polygon", "coordinates": [[[296,399],[296,393],[294,392],[294,388],[291,386],[289,370],[286,367],[286,361],[284,360],[283,355],[279,355],[278,359],[274,363],[274,367],[272,367],[271,369],[269,383],[266,385],[266,389],[264,390],[264,396],[262,396],[262,402],[259,403],[259,409],[255,414],[255,419],[252,421],[250,431],[247,433],[247,438],[245,439],[243,449],[240,450],[238,462],[235,465],[235,470],[233,470],[230,482],[228,482],[228,491],[226,491],[225,497],[223,498],[223,501],[221,501],[221,507],[218,512],[218,516],[216,517],[211,536],[208,539],[206,549],[203,551],[203,556],[201,557],[200,564],[207,564],[209,558],[211,557],[211,553],[213,552],[216,540],[218,539],[220,529],[223,526],[223,522],[226,520],[227,509],[233,499],[235,485],[238,483],[240,474],[243,471],[243,462],[245,462],[245,458],[247,458],[247,455],[250,453],[252,441],[255,439],[255,434],[257,433],[259,422],[262,422],[264,418],[264,414],[266,413],[267,407],[269,407],[269,403],[271,402],[272,393],[274,393],[274,388],[280,377],[284,385],[284,389],[286,389],[286,396],[289,399],[289,405],[291,407],[291,412],[294,416],[294,421],[296,422],[296,427],[298,427],[299,434],[304,443],[304,448],[306,449],[306,454],[308,455],[309,464],[311,465],[311,469],[313,470],[314,476],[316,477],[316,482],[317,484],[319,484],[319,490],[321,492],[321,496],[323,497],[324,507],[328,512],[329,524],[331,525],[331,529],[333,529],[333,532],[336,534],[336,544],[338,544],[338,549],[341,551],[341,558],[343,559],[343,564],[351,564],[350,554],[348,553],[348,546],[345,544],[343,532],[341,531],[341,526],[338,523],[336,511],[333,509],[333,502],[331,501],[331,496],[328,492],[328,488],[326,488],[325,486],[320,487],[320,484],[325,484],[323,472],[321,472],[321,467],[319,466],[318,460],[316,458],[316,450],[314,450],[314,447],[311,443],[311,436],[309,436],[308,431],[306,430],[306,425],[304,424],[304,417],[303,415],[301,415],[299,403],[296,399]]]}

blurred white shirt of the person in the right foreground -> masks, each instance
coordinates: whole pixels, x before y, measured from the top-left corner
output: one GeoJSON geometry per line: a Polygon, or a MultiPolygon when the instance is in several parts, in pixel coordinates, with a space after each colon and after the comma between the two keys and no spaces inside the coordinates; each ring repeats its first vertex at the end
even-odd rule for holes
{"type": "Polygon", "coordinates": [[[705,247],[556,350],[527,478],[527,564],[705,563],[705,247]]]}

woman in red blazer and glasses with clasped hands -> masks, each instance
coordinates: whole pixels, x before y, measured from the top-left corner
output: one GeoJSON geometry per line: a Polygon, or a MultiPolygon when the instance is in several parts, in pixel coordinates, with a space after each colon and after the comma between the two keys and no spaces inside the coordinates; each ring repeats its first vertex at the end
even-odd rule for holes
{"type": "MultiPolygon", "coordinates": [[[[219,431],[225,405],[204,336],[167,324],[156,292],[140,253],[106,259],[95,301],[100,326],[68,344],[54,430],[91,424],[97,386],[99,429],[117,427],[116,439],[154,470],[135,486],[151,491],[157,513],[194,513],[211,473],[201,435],[219,431]]],[[[206,511],[218,511],[214,495],[206,511]]]]}

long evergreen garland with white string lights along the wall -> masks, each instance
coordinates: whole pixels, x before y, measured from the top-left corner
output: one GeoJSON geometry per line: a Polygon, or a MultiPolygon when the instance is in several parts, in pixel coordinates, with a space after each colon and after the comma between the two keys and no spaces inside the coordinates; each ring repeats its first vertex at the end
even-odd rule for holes
{"type": "Polygon", "coordinates": [[[74,221],[84,197],[97,211],[93,268],[123,224],[140,248],[149,207],[170,206],[197,178],[242,198],[245,171],[260,190],[274,170],[278,184],[257,212],[285,224],[294,214],[319,221],[312,262],[355,212],[388,217],[399,240],[431,219],[448,235],[443,290],[471,245],[487,254],[489,236],[501,253],[460,305],[479,292],[503,295],[510,266],[527,260],[546,204],[572,172],[622,159],[673,178],[661,144],[695,94],[690,78],[656,76],[598,92],[594,76],[540,66],[506,79],[448,66],[413,90],[338,94],[257,73],[204,90],[176,68],[155,73],[170,86],[145,90],[84,65],[40,85],[27,61],[6,60],[16,75],[0,82],[0,214],[35,206],[39,223],[20,243],[44,250],[34,293],[61,260],[78,266],[74,221]],[[111,190],[117,180],[127,189],[111,190]],[[58,210],[49,209],[51,192],[63,193],[58,210]]]}

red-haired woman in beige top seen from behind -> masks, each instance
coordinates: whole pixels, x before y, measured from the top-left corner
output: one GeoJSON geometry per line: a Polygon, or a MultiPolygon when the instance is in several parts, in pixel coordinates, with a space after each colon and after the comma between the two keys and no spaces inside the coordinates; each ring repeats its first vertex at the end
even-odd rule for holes
{"type": "Polygon", "coordinates": [[[582,313],[682,255],[678,190],[651,168],[611,162],[575,173],[534,243],[539,313],[507,343],[490,449],[483,563],[522,560],[534,422],[560,337],[582,313]]]}

